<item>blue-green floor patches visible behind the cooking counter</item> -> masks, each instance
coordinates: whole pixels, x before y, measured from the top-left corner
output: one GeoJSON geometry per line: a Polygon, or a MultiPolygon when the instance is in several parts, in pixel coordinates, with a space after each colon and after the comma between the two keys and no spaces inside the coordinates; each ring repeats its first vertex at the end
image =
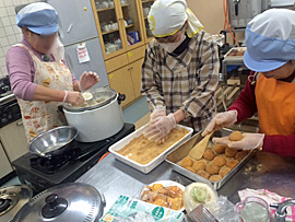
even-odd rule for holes
{"type": "MultiPolygon", "coordinates": [[[[123,118],[126,122],[135,124],[140,119],[142,119],[142,122],[140,121],[139,125],[144,125],[146,119],[149,120],[148,114],[150,113],[146,98],[142,97],[141,100],[137,101],[131,106],[127,107],[123,110],[123,118]],[[144,118],[143,118],[144,117],[144,118]]],[[[138,127],[138,126],[137,126],[138,127]]],[[[10,179],[8,183],[0,185],[0,187],[10,186],[10,185],[16,185],[21,184],[17,177],[14,177],[10,179]]]]}

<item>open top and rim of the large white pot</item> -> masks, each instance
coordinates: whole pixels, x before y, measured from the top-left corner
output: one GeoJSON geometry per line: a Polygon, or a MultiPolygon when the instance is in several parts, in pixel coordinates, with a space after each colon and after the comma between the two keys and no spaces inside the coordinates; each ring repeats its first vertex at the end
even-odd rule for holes
{"type": "Polygon", "coordinates": [[[64,104],[63,107],[69,112],[92,110],[109,104],[117,96],[117,92],[109,87],[90,90],[85,94],[87,94],[88,96],[90,93],[93,97],[91,100],[85,100],[85,103],[82,106],[72,106],[71,104],[64,104]]]}

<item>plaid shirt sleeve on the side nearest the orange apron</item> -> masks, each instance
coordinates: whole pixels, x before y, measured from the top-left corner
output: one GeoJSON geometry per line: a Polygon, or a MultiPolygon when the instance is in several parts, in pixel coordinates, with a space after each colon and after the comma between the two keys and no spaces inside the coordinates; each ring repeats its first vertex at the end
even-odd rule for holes
{"type": "MultiPolygon", "coordinates": [[[[201,66],[196,75],[200,81],[196,81],[196,87],[190,97],[182,103],[180,109],[187,117],[202,116],[212,105],[210,100],[214,96],[219,84],[220,59],[217,45],[213,40],[202,40],[201,47],[201,66]]],[[[197,78],[197,77],[196,77],[197,78]]],[[[213,100],[215,100],[213,97],[213,100]]]]}

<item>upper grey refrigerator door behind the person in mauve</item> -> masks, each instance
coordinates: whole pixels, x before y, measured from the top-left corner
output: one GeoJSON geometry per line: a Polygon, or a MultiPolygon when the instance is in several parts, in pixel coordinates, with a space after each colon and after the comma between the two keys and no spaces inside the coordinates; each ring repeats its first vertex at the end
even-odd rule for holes
{"type": "Polygon", "coordinates": [[[64,46],[97,37],[90,0],[47,0],[58,12],[59,35],[64,46]]]}

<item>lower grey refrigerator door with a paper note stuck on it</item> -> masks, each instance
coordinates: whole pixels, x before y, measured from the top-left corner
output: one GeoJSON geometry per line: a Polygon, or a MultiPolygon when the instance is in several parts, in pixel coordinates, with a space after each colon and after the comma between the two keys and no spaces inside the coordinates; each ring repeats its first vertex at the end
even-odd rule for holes
{"type": "Polygon", "coordinates": [[[66,61],[72,74],[79,80],[84,71],[96,72],[101,82],[94,87],[102,87],[108,85],[107,71],[105,67],[104,57],[101,49],[98,37],[84,42],[90,56],[90,61],[79,63],[76,45],[64,46],[66,61]]]}

